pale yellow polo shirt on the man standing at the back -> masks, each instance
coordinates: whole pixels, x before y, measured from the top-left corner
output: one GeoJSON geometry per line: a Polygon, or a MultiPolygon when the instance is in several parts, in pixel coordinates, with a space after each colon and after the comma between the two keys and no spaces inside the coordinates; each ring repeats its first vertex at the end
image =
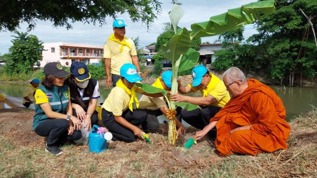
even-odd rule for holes
{"type": "Polygon", "coordinates": [[[103,58],[111,59],[111,73],[120,75],[120,68],[125,63],[132,64],[132,55],[137,55],[137,50],[134,42],[130,38],[125,38],[125,42],[129,43],[131,49],[123,45],[122,52],[120,53],[121,44],[116,41],[107,40],[103,46],[103,58]]]}

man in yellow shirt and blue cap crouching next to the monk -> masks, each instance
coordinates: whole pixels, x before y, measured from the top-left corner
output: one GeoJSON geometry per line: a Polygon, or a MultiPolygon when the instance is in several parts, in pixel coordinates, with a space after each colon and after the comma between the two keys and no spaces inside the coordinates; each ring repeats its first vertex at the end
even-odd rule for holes
{"type": "MultiPolygon", "coordinates": [[[[202,96],[191,97],[177,93],[171,95],[171,100],[199,105],[201,109],[197,108],[192,111],[183,109],[180,116],[188,124],[198,129],[203,129],[209,124],[210,118],[214,117],[230,100],[230,95],[223,82],[216,75],[210,73],[203,65],[198,65],[192,70],[192,77],[193,83],[187,86],[180,86],[179,84],[178,92],[190,93],[199,90],[202,96]]],[[[212,132],[210,134],[213,137],[216,136],[212,132]]]]}

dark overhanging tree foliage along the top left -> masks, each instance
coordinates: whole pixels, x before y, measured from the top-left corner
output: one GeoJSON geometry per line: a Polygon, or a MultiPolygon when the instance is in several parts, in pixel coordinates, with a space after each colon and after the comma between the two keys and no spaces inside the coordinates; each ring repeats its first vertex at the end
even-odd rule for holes
{"type": "Polygon", "coordinates": [[[158,0],[1,0],[0,31],[14,31],[20,22],[26,22],[28,30],[32,30],[37,20],[49,20],[53,26],[67,29],[77,21],[101,26],[106,17],[115,19],[123,13],[149,28],[160,11],[158,0]]]}

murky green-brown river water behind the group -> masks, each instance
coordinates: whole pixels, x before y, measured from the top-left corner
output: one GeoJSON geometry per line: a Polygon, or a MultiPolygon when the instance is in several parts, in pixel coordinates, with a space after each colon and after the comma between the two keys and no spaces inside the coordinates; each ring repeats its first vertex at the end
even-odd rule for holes
{"type": "MultiPolygon", "coordinates": [[[[0,82],[0,94],[22,98],[23,90],[26,84],[9,84],[0,82]]],[[[286,119],[289,120],[293,117],[298,117],[300,114],[312,110],[317,107],[317,89],[316,88],[284,88],[270,86],[274,89],[277,95],[283,101],[286,108],[286,119]]],[[[105,86],[100,86],[99,103],[103,103],[105,98],[110,93],[111,89],[106,89],[105,86]]],[[[195,93],[196,94],[196,93],[195,93]]],[[[161,122],[164,117],[160,117],[161,122]]]]}

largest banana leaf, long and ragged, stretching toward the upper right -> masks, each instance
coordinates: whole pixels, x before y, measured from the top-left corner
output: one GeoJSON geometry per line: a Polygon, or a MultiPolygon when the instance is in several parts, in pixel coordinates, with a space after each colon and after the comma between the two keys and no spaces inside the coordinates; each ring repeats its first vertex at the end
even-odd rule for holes
{"type": "Polygon", "coordinates": [[[193,23],[191,25],[193,37],[215,36],[240,28],[242,24],[250,24],[260,19],[260,12],[270,15],[275,12],[274,0],[263,0],[229,9],[227,13],[213,16],[209,21],[193,23]]]}

